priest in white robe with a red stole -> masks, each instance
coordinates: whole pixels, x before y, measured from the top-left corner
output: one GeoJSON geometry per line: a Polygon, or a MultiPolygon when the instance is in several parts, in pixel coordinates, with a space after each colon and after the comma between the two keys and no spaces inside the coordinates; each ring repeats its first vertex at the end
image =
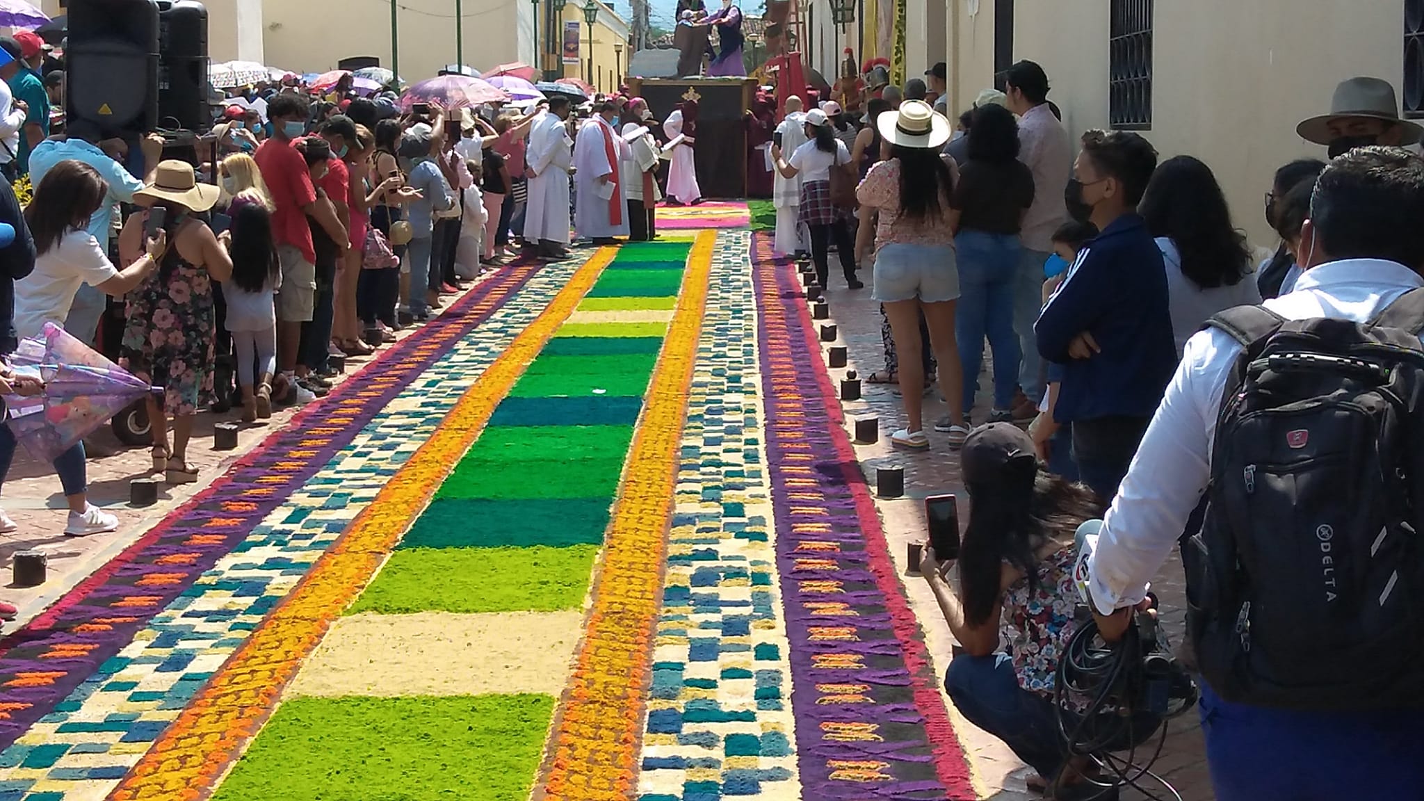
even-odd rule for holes
{"type": "Polygon", "coordinates": [[[628,235],[628,190],[621,161],[628,148],[614,130],[618,105],[604,101],[578,128],[574,143],[574,182],[578,187],[574,229],[595,245],[615,245],[614,237],[628,235]]]}

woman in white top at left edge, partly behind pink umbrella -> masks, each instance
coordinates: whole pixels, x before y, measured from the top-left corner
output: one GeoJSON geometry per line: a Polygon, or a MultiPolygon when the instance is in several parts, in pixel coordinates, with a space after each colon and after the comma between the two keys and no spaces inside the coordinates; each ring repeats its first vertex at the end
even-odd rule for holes
{"type": "MultiPolygon", "coordinates": [[[[90,217],[108,195],[108,184],[98,171],[80,161],[61,161],[44,174],[34,200],[24,210],[24,222],[34,241],[34,271],[14,284],[14,334],[24,339],[38,336],[46,322],[64,325],[70,304],[80,285],[88,284],[112,296],[122,296],[154,271],[167,238],[162,232],[150,239],[144,257],[127,269],[115,269],[98,241],[87,231],[90,217]]],[[[14,349],[9,342],[7,351],[14,349]]],[[[9,426],[0,435],[0,479],[14,458],[14,436],[9,426]]],[[[54,459],[54,472],[70,506],[67,536],[97,534],[118,527],[118,517],[88,502],[84,442],[54,459]]],[[[7,517],[0,532],[14,530],[7,517]]]]}

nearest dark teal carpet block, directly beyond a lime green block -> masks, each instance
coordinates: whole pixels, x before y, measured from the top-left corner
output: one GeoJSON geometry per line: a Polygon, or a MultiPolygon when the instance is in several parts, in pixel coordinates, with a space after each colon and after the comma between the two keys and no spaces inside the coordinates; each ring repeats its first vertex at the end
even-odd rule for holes
{"type": "Polygon", "coordinates": [[[555,502],[440,497],[430,503],[399,547],[600,544],[608,530],[609,506],[607,497],[555,502]]]}

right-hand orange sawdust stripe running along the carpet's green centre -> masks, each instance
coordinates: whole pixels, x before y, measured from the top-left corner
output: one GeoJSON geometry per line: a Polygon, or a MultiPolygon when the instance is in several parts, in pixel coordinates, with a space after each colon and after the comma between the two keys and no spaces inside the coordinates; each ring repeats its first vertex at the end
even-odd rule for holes
{"type": "Polygon", "coordinates": [[[698,234],[608,527],[594,606],[545,751],[545,801],[627,801],[637,784],[682,423],[716,234],[698,234]]]}

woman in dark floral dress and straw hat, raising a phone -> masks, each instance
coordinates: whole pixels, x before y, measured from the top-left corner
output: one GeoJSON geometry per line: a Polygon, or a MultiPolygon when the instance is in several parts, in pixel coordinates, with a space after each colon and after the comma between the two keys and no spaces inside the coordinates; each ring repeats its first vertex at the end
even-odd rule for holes
{"type": "Polygon", "coordinates": [[[138,378],[162,382],[162,403],[148,399],[148,419],[154,429],[154,469],[164,470],[168,483],[198,480],[187,453],[192,416],[201,396],[212,391],[212,282],[232,275],[228,234],[214,237],[198,218],[218,202],[218,187],[198,182],[191,164],[159,162],[154,181],[134,194],[134,201],[150,210],[131,215],[118,235],[121,259],[135,261],[150,215],[164,211],[162,228],[171,245],[158,269],[130,294],[120,356],[138,378]]]}

